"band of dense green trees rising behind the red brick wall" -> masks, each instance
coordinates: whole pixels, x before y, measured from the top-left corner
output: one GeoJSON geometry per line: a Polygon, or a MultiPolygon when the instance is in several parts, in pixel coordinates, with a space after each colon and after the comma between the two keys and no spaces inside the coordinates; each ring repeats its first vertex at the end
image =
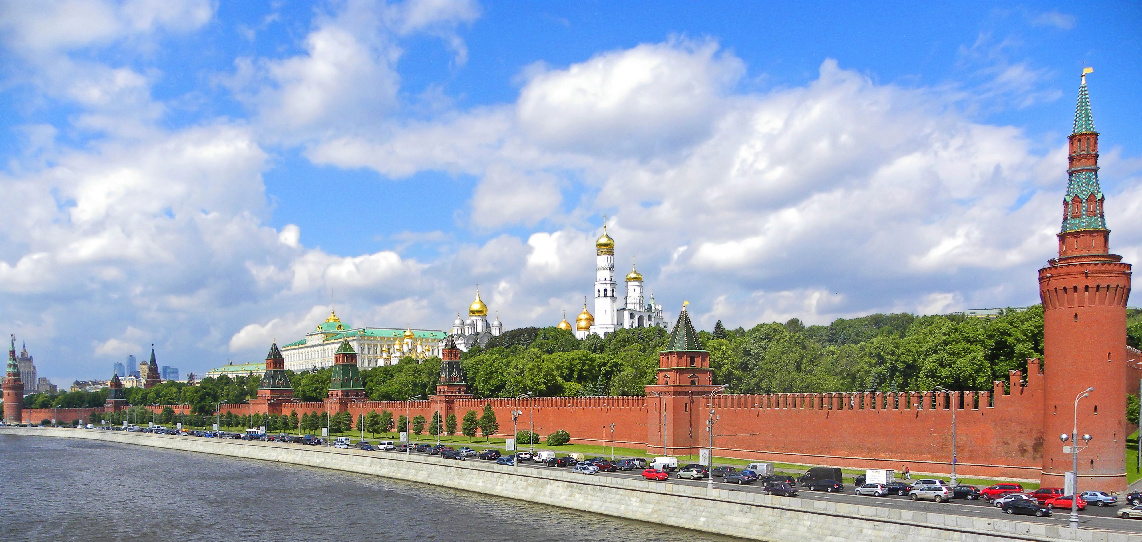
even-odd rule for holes
{"type": "MultiPolygon", "coordinates": [[[[1142,342],[1142,311],[1128,314],[1128,341],[1142,342]]],[[[468,385],[477,398],[532,392],[555,396],[636,396],[654,382],[658,352],[669,338],[661,328],[620,329],[605,338],[579,341],[557,327],[509,330],[486,349],[464,353],[468,385]]],[[[731,393],[838,392],[991,388],[1007,370],[1027,368],[1027,358],[1043,353],[1043,308],[1004,311],[995,318],[957,314],[871,314],[837,319],[828,326],[758,324],[753,328],[699,332],[710,351],[714,382],[731,393]]],[[[373,400],[427,397],[435,390],[440,359],[362,369],[373,400]]],[[[330,369],[290,373],[293,394],[320,401],[329,389],[330,369]]],[[[246,402],[255,397],[258,376],[202,378],[187,386],[164,382],[150,390],[124,390],[135,405],[190,404],[214,413],[219,400],[246,402]]],[[[106,392],[32,394],[29,408],[102,406],[106,392]]]]}

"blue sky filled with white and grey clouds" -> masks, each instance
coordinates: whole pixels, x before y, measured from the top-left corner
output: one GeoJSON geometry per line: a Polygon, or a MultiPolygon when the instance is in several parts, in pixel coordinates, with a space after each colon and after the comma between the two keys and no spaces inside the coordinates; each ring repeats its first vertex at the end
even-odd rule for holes
{"type": "Polygon", "coordinates": [[[57,381],[257,359],[335,293],[550,325],[604,214],[707,328],[1035,303],[1084,65],[1142,253],[1142,8],[1075,7],[0,2],[0,320],[57,381]]]}

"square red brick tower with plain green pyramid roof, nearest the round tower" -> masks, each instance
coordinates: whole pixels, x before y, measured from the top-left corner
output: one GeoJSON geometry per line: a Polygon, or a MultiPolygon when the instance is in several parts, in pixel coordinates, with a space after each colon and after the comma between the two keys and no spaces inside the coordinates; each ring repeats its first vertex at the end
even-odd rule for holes
{"type": "Polygon", "coordinates": [[[684,303],[667,350],[658,354],[657,383],[646,386],[646,451],[697,455],[706,416],[695,408],[702,408],[702,396],[715,388],[710,353],[699,344],[684,303]]]}

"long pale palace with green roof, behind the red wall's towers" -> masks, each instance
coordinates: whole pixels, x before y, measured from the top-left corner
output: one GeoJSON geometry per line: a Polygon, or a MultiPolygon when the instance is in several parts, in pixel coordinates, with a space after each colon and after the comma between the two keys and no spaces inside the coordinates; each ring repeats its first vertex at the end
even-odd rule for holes
{"type": "Polygon", "coordinates": [[[440,357],[448,334],[435,329],[349,327],[330,309],[329,318],[305,334],[305,338],[281,346],[287,369],[301,372],[333,365],[333,353],[346,340],[357,354],[357,365],[372,368],[394,365],[401,358],[440,357]]]}

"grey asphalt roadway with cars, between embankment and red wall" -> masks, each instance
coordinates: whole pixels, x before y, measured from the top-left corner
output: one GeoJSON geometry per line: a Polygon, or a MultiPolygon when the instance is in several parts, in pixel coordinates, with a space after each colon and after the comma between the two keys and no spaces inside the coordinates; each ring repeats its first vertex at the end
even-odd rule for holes
{"type": "MultiPolygon", "coordinates": [[[[468,461],[480,461],[469,457],[468,461]]],[[[532,462],[521,462],[520,468],[522,469],[542,469],[542,470],[570,470],[570,468],[555,468],[547,465],[539,465],[532,462]]],[[[587,475],[584,475],[587,476],[587,475]]],[[[633,471],[617,471],[617,472],[600,472],[595,476],[616,477],[616,478],[642,478],[642,469],[633,471]]],[[[669,481],[664,481],[662,484],[683,484],[687,486],[701,486],[706,487],[707,480],[684,480],[679,478],[670,478],[669,481]]],[[[730,491],[742,491],[750,493],[763,493],[759,486],[749,485],[738,485],[738,484],[723,484],[715,478],[714,486],[722,489],[730,491]]],[[[912,510],[919,512],[935,512],[935,513],[954,513],[960,516],[973,516],[973,517],[986,517],[995,519],[1008,519],[1008,520],[1020,520],[1029,523],[1043,523],[1053,524],[1065,527],[1068,525],[1068,518],[1070,517],[1070,509],[1056,510],[1055,513],[1047,518],[1038,518],[1035,516],[1008,516],[1003,513],[994,504],[988,504],[984,501],[965,501],[963,499],[956,499],[950,502],[932,502],[932,501],[912,501],[907,496],[899,495],[887,495],[883,497],[874,496],[861,496],[853,494],[853,486],[846,485],[843,493],[825,493],[825,492],[811,492],[804,487],[798,487],[801,493],[797,495],[801,499],[812,499],[818,501],[834,501],[844,502],[850,504],[868,504],[874,507],[884,508],[899,508],[902,510],[912,510]]],[[[1116,512],[1121,507],[1095,507],[1089,505],[1086,510],[1079,511],[1079,526],[1083,528],[1093,529],[1105,529],[1105,531],[1119,531],[1129,533],[1142,532],[1142,520],[1139,519],[1121,519],[1116,517],[1116,512]]]]}

